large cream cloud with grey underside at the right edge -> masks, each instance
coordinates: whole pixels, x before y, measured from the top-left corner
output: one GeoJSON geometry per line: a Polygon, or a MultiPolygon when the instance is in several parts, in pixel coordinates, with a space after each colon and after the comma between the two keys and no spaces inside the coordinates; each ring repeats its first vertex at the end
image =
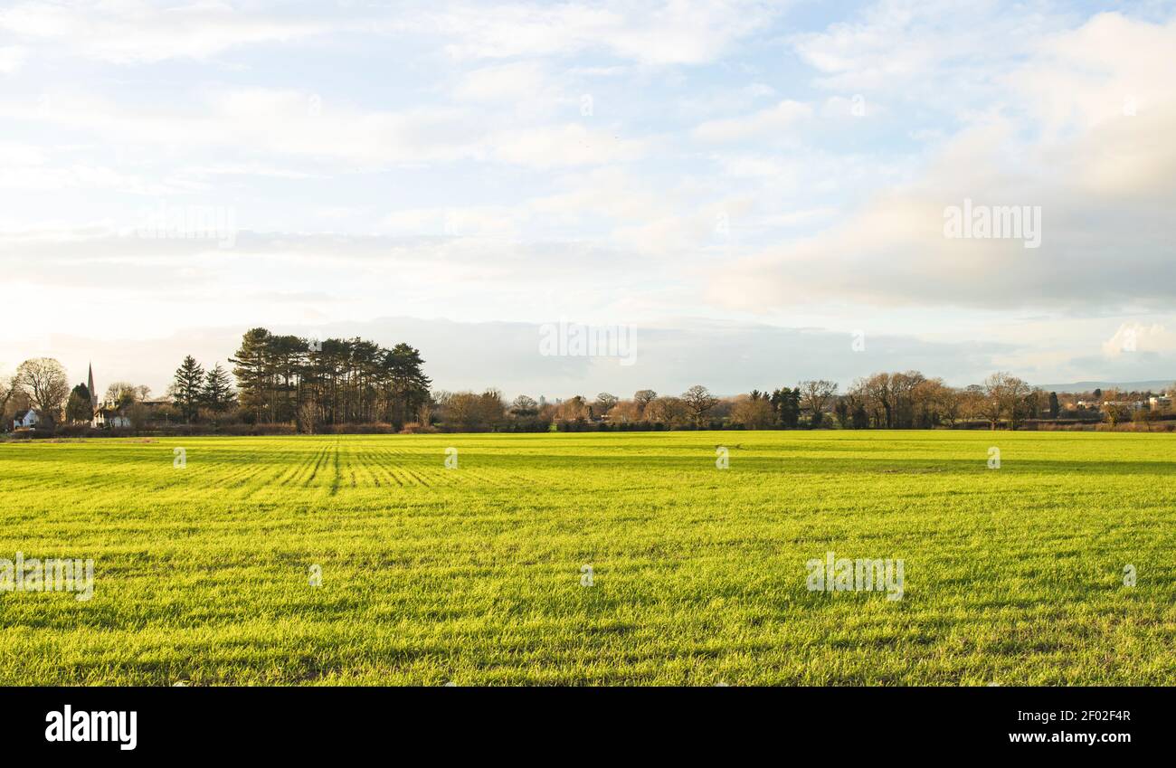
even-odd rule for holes
{"type": "Polygon", "coordinates": [[[1075,302],[1087,310],[1169,303],[1176,147],[1164,136],[1176,133],[1176,95],[1158,87],[1164,73],[1151,73],[1135,78],[1148,95],[1145,112],[1124,115],[1114,98],[1140,69],[1132,52],[1151,55],[1164,46],[1176,49],[1176,25],[1108,16],[1043,40],[1009,75],[1007,96],[1018,109],[975,118],[920,176],[873,195],[828,229],[741,260],[711,296],[760,310],[835,298],[1055,310],[1075,302]],[[1043,91],[1065,108],[1042,105],[1043,91]],[[1042,131],[1063,113],[1064,132],[1042,131]],[[943,211],[965,198],[1040,206],[1042,247],[947,239],[943,211]]]}

